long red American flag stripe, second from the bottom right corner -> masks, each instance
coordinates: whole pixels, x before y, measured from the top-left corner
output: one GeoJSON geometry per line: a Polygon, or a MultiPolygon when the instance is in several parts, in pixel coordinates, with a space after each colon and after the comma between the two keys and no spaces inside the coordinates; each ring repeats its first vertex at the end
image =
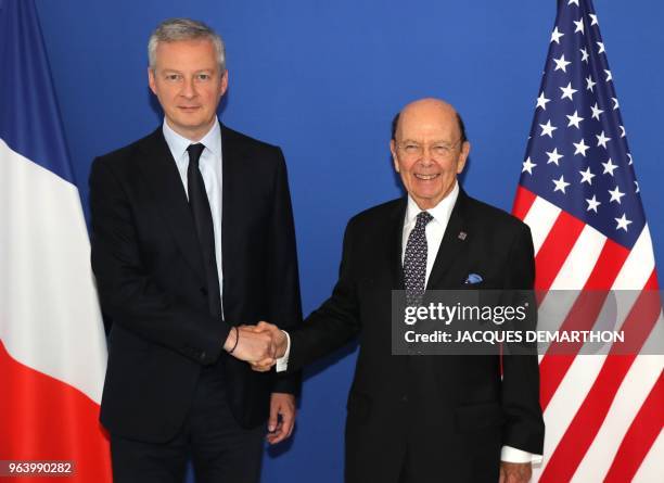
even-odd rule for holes
{"type": "MultiPolygon", "coordinates": [[[[660,316],[661,303],[655,289],[656,277],[653,271],[622,328],[626,340],[635,336],[639,339],[639,346],[643,344],[660,316]]],[[[541,473],[540,483],[570,481],[597,436],[617,390],[636,358],[636,355],[616,355],[614,348],[606,356],[592,387],[551,455],[541,473]]]]}

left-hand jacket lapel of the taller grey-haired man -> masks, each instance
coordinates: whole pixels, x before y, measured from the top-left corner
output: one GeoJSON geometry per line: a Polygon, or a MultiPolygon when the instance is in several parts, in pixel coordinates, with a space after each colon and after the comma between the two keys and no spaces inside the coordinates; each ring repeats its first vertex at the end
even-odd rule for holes
{"type": "Polygon", "coordinates": [[[141,150],[144,157],[138,165],[145,175],[148,185],[152,188],[164,219],[170,227],[184,259],[201,279],[205,280],[201,249],[189,211],[187,192],[161,127],[145,138],[141,150]]]}

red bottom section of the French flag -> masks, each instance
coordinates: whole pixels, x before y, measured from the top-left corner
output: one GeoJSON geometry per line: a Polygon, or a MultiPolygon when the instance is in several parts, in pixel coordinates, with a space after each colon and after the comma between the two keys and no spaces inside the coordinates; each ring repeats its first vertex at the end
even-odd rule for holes
{"type": "MultiPolygon", "coordinates": [[[[74,461],[67,482],[111,482],[99,405],[77,389],[16,361],[0,341],[0,459],[74,461]]],[[[53,478],[22,482],[52,483],[53,478]]]]}

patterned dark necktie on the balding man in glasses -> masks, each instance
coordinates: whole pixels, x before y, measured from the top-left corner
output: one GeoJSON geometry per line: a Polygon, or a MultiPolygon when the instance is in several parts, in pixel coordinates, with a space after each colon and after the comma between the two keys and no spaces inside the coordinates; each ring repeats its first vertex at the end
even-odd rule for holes
{"type": "Polygon", "coordinates": [[[419,305],[424,295],[426,280],[426,225],[433,219],[426,212],[420,212],[414,228],[408,236],[404,256],[404,284],[406,304],[419,305]]]}

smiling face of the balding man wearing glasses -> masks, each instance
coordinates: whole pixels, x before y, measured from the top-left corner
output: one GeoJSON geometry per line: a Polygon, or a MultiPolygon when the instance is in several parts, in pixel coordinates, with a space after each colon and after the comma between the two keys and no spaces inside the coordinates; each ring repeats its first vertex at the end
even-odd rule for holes
{"type": "Polygon", "coordinates": [[[457,114],[449,104],[423,99],[401,111],[390,150],[404,188],[421,209],[429,209],[454,189],[470,143],[461,142],[457,114]]]}

